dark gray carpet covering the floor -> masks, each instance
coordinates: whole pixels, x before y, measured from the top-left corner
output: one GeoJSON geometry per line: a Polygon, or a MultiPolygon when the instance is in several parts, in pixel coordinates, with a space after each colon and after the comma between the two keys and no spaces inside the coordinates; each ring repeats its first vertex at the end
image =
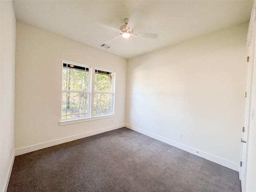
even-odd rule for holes
{"type": "Polygon", "coordinates": [[[238,172],[133,130],[16,156],[8,192],[240,192],[238,172]]]}

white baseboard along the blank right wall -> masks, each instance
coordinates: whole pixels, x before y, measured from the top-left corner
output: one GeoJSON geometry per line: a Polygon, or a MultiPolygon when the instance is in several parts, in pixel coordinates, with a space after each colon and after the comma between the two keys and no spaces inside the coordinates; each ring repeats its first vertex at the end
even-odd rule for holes
{"type": "Polygon", "coordinates": [[[212,161],[212,162],[215,162],[215,163],[217,163],[217,164],[220,164],[220,165],[222,165],[222,166],[225,166],[225,167],[227,167],[227,168],[230,168],[230,169],[232,169],[232,170],[239,171],[239,165],[236,164],[236,163],[234,163],[234,162],[230,162],[230,161],[228,161],[228,160],[225,160],[225,159],[222,159],[222,158],[220,158],[220,157],[214,156],[214,155],[212,155],[212,154],[209,154],[209,153],[200,151],[200,150],[195,149],[195,148],[192,148],[192,147],[190,147],[190,146],[186,146],[186,145],[184,145],[184,144],[181,144],[181,143],[172,141],[172,140],[170,140],[170,139],[168,139],[168,138],[164,138],[164,137],[162,137],[162,136],[159,136],[159,135],[156,135],[156,134],[154,134],[154,133],[151,133],[151,132],[142,130],[142,129],[140,129],[140,128],[131,126],[131,125],[129,125],[129,124],[126,124],[126,127],[129,128],[129,129],[131,129],[131,130],[134,130],[134,131],[136,131],[136,132],[142,133],[142,134],[144,134],[144,135],[146,135],[146,136],[152,137],[152,138],[154,138],[154,139],[156,139],[156,140],[162,141],[162,142],[167,143],[167,144],[169,144],[169,145],[172,145],[172,146],[174,146],[174,147],[180,148],[180,149],[182,149],[182,150],[184,150],[184,151],[190,152],[190,153],[192,153],[192,154],[195,154],[195,155],[197,155],[197,156],[200,156],[200,157],[202,157],[202,158],[205,158],[205,159],[207,159],[207,160],[210,160],[210,161],[212,161]]]}

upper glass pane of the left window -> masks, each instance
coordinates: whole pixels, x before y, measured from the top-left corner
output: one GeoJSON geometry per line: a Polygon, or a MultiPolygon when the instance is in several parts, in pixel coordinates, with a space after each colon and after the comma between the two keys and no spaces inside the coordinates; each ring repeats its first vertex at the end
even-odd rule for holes
{"type": "MultiPolygon", "coordinates": [[[[85,91],[88,85],[88,72],[77,69],[67,69],[67,88],[64,90],[85,91]],[[87,78],[87,84],[86,84],[87,78]]],[[[88,88],[87,88],[88,90],[88,88]]]]}

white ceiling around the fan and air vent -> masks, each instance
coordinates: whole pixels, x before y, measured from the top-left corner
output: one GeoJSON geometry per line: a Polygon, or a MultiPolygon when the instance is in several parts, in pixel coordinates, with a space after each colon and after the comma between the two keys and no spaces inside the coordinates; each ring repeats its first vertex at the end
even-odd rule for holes
{"type": "Polygon", "coordinates": [[[252,0],[14,0],[16,20],[132,58],[223,28],[249,22],[252,0]],[[119,29],[124,18],[134,18],[134,33],[154,33],[158,38],[120,35],[100,24],[119,29]],[[106,43],[110,48],[100,45],[106,43]]]}

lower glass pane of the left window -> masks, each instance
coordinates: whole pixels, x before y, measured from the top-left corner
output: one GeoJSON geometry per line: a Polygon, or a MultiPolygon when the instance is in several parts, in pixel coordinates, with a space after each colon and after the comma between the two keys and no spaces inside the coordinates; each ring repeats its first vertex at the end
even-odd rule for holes
{"type": "Polygon", "coordinates": [[[62,94],[62,119],[88,117],[87,93],[62,94]]]}

